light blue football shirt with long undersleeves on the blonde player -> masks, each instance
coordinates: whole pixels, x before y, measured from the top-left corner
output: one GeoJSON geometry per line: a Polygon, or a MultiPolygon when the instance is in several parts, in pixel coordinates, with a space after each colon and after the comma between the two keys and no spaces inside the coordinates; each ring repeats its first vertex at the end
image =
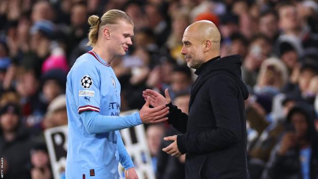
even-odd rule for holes
{"type": "Polygon", "coordinates": [[[79,57],[68,73],[66,106],[66,178],[119,178],[119,161],[134,166],[117,130],[141,124],[139,113],[119,117],[119,81],[95,52],[79,57]]]}

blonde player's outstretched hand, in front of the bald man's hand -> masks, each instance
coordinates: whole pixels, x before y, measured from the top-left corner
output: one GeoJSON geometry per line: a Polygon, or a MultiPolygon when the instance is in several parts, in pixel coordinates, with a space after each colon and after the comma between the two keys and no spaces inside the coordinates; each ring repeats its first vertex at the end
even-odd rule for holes
{"type": "Polygon", "coordinates": [[[139,111],[143,123],[156,123],[168,120],[168,117],[165,116],[169,114],[169,107],[161,105],[155,108],[149,108],[149,105],[150,97],[147,98],[145,105],[139,111]]]}

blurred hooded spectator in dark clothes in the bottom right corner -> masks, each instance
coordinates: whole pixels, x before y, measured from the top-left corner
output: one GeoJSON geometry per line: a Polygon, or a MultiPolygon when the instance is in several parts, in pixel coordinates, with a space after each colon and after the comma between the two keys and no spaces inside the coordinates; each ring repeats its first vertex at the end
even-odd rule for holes
{"type": "Polygon", "coordinates": [[[317,134],[309,109],[295,106],[289,111],[286,131],[262,178],[316,178],[317,134]]]}

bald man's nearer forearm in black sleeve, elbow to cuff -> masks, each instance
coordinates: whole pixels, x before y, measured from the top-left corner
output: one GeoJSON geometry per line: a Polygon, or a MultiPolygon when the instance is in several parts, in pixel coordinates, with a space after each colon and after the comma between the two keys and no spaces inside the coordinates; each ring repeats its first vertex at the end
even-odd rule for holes
{"type": "Polygon", "coordinates": [[[227,129],[186,133],[177,137],[178,149],[182,154],[193,152],[204,154],[234,145],[240,138],[227,129]]]}

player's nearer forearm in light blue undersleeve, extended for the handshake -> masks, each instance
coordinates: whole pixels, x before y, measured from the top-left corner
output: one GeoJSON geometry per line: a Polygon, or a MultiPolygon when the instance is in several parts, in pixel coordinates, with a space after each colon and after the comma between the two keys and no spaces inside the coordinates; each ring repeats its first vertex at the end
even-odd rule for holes
{"type": "Polygon", "coordinates": [[[81,118],[89,134],[118,131],[142,124],[139,113],[127,116],[103,116],[95,111],[85,111],[81,113],[81,118]]]}

